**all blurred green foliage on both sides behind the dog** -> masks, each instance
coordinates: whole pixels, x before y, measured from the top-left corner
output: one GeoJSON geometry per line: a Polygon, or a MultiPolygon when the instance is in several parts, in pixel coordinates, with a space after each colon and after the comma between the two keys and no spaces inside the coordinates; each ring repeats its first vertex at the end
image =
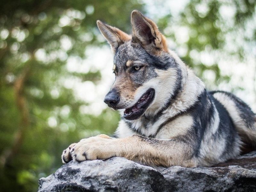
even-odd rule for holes
{"type": "MultiPolygon", "coordinates": [[[[146,4],[146,1],[143,3],[140,0],[1,1],[2,191],[37,190],[38,179],[61,166],[60,155],[70,143],[99,133],[114,132],[118,113],[110,109],[104,109],[99,116],[81,113],[81,106],[89,103],[77,99],[72,87],[63,86],[65,79],[74,78],[97,85],[101,72],[68,71],[67,60],[70,57],[86,59],[85,50],[88,47],[106,44],[99,39],[96,20],[129,32],[132,10],[149,14],[146,4]]],[[[227,55],[239,53],[243,60],[246,47],[240,46],[234,52],[228,50],[226,36],[234,37],[237,31],[245,42],[255,45],[255,28],[253,36],[242,33],[246,31],[245,23],[253,18],[255,22],[255,4],[254,0],[191,0],[177,18],[169,12],[156,21],[160,30],[171,39],[171,48],[183,47],[185,51],[181,57],[196,69],[197,75],[204,77],[205,70],[212,70],[215,74],[212,83],[217,84],[229,79],[221,75],[218,60],[209,65],[196,56],[200,52],[217,50],[227,55]],[[231,24],[221,16],[220,10],[225,12],[225,6],[234,7],[234,22],[231,24]],[[177,27],[188,30],[186,41],[177,39],[177,27]]]]}

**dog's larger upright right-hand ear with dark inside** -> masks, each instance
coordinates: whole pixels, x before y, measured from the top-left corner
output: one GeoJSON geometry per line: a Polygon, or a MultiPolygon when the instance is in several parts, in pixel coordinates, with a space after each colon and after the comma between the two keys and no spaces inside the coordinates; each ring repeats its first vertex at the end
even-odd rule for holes
{"type": "Polygon", "coordinates": [[[132,40],[142,45],[152,45],[157,49],[168,51],[165,37],[160,33],[156,23],[134,10],[131,15],[132,40]]]}

